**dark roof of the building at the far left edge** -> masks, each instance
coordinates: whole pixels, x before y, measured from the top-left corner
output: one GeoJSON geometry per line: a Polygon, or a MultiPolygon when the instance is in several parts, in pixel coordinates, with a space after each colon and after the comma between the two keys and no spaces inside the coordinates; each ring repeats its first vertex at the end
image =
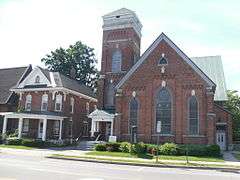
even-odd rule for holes
{"type": "Polygon", "coordinates": [[[0,104],[8,103],[12,96],[10,89],[19,84],[32,66],[0,69],[0,104]]]}

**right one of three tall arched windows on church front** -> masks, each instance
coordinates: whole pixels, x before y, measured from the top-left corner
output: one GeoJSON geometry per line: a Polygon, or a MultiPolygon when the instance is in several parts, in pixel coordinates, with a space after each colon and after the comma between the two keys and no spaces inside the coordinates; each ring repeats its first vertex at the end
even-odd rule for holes
{"type": "Polygon", "coordinates": [[[189,134],[196,135],[199,132],[198,121],[198,102],[196,96],[191,96],[189,99],[189,134]]]}

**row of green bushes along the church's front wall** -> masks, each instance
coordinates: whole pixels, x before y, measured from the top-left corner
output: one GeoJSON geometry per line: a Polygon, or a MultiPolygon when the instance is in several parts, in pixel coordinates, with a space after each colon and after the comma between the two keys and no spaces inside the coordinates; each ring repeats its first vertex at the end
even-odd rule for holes
{"type": "Polygon", "coordinates": [[[157,146],[155,144],[144,144],[143,142],[131,144],[129,142],[122,143],[106,143],[97,144],[96,151],[109,152],[125,152],[131,154],[152,154],[156,155],[157,151],[160,155],[179,155],[184,156],[188,152],[189,156],[208,156],[219,157],[221,150],[218,145],[179,145],[174,143],[165,143],[157,146]]]}

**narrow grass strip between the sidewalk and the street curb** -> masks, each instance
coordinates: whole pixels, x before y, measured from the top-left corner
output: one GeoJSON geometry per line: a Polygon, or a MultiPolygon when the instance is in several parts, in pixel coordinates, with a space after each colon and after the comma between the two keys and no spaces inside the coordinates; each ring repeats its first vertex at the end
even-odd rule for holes
{"type": "Polygon", "coordinates": [[[157,164],[155,161],[144,161],[141,159],[111,159],[109,157],[97,157],[97,156],[68,156],[68,155],[62,155],[62,154],[53,154],[49,156],[49,158],[63,158],[63,159],[79,159],[79,160],[93,160],[93,161],[102,161],[102,162],[119,162],[119,163],[124,163],[124,164],[139,164],[139,165],[155,165],[155,166],[179,166],[179,167],[210,167],[210,168],[235,168],[235,169],[240,169],[240,166],[231,166],[231,165],[224,165],[224,164],[200,164],[200,163],[186,163],[186,162],[161,162],[159,161],[157,164]]]}

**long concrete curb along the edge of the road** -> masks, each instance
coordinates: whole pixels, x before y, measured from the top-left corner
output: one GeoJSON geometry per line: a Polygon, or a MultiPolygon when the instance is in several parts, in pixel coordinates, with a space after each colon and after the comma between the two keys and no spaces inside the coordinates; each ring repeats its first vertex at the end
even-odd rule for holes
{"type": "Polygon", "coordinates": [[[225,172],[234,172],[240,174],[240,169],[238,168],[226,168],[226,167],[196,167],[196,166],[181,166],[181,165],[164,165],[164,164],[147,164],[147,163],[134,163],[134,162],[114,162],[107,160],[94,160],[94,159],[80,159],[80,158],[71,158],[71,157],[54,157],[47,156],[49,159],[58,159],[58,160],[71,160],[71,161],[82,161],[82,162],[94,162],[94,163],[103,163],[103,164],[117,164],[117,165],[129,165],[129,166],[144,166],[144,167],[158,167],[158,168],[183,168],[183,169],[201,169],[201,170],[220,170],[225,172]]]}

